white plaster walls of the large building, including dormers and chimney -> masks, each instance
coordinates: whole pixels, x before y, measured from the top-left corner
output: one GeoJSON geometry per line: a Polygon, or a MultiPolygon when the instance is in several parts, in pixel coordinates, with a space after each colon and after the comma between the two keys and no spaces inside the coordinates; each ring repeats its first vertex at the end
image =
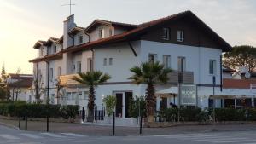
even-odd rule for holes
{"type": "MultiPolygon", "coordinates": [[[[73,15],[64,21],[63,47],[60,45],[60,49],[72,49],[68,47],[79,46],[82,44],[80,43],[81,36],[83,43],[90,43],[102,38],[126,32],[125,29],[102,24],[95,26],[95,28],[90,30],[89,33],[77,32],[73,36],[69,35],[68,32],[71,32],[75,26],[73,15]]],[[[122,95],[123,106],[121,117],[125,118],[126,93],[129,92],[129,95],[132,93],[132,96],[141,96],[145,95],[146,89],[146,84],[132,84],[131,80],[128,80],[132,75],[130,68],[133,66],[139,66],[142,62],[148,61],[148,55],[154,55],[154,59],[160,61],[160,63],[163,63],[164,55],[168,55],[170,57],[169,66],[172,70],[176,71],[178,70],[178,59],[183,57],[183,71],[193,72],[193,84],[198,85],[198,106],[208,107],[208,98],[213,93],[212,77],[214,76],[216,78],[217,85],[221,85],[220,55],[222,55],[222,49],[189,46],[188,44],[160,43],[140,39],[133,40],[129,43],[111,43],[97,45],[95,47],[91,47],[91,49],[71,52],[67,51],[61,53],[61,58],[49,60],[49,70],[52,71],[52,77],[50,77],[49,80],[49,96],[54,99],[52,103],[56,103],[57,101],[55,98],[55,80],[58,79],[60,75],[66,76],[78,72],[99,70],[108,73],[112,78],[109,79],[106,84],[101,84],[96,88],[96,106],[102,106],[102,99],[107,95],[122,95]],[[131,45],[129,43],[131,43],[131,45]],[[212,64],[212,70],[210,70],[211,61],[214,61],[212,64]],[[212,71],[212,74],[210,71],[212,71]]],[[[40,51],[40,49],[38,50],[40,51]]],[[[44,88],[46,88],[48,82],[48,64],[45,61],[37,63],[38,65],[34,64],[34,69],[38,66],[38,70],[42,73],[44,88]]],[[[51,74],[51,72],[49,73],[51,74]]],[[[159,84],[156,86],[156,91],[168,89],[171,86],[173,85],[159,84]]],[[[214,90],[215,92],[220,91],[218,86],[214,90]]],[[[61,89],[61,93],[63,93],[61,100],[62,104],[78,104],[80,106],[87,105],[88,88],[84,86],[65,85],[65,87],[61,89]]],[[[44,93],[44,99],[46,95],[47,94],[44,93]]],[[[177,103],[177,98],[175,101],[177,103]]],[[[168,105],[170,102],[174,102],[174,99],[168,98],[168,105]]],[[[220,107],[220,103],[220,101],[216,101],[216,107],[220,107]]]]}

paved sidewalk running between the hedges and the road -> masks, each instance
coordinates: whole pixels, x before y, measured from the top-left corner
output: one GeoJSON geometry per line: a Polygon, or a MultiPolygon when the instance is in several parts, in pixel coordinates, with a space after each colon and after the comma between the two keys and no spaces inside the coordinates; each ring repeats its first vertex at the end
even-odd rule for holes
{"type": "MultiPolygon", "coordinates": [[[[18,127],[16,120],[0,119],[0,124],[9,127],[18,127]]],[[[25,129],[25,121],[21,122],[21,130],[25,129]]],[[[28,121],[27,130],[46,131],[46,122],[28,121]]],[[[237,131],[237,130],[256,130],[256,124],[229,124],[229,125],[186,125],[168,128],[143,128],[143,135],[172,135],[185,134],[192,132],[212,132],[212,131],[237,131]]],[[[49,123],[49,131],[61,133],[71,132],[83,135],[112,135],[111,126],[86,125],[73,123],[49,123]]],[[[139,135],[139,128],[135,127],[116,127],[116,135],[139,135]]]]}

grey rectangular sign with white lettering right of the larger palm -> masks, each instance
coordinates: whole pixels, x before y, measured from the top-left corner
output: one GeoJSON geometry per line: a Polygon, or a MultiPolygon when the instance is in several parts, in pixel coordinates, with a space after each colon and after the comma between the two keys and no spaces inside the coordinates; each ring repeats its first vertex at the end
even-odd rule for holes
{"type": "Polygon", "coordinates": [[[195,84],[179,84],[180,105],[196,106],[195,84]]]}

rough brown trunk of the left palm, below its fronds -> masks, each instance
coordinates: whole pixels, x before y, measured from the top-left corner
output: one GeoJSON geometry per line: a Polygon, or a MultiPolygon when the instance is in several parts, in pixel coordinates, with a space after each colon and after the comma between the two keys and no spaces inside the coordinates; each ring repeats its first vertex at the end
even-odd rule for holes
{"type": "Polygon", "coordinates": [[[89,88],[89,101],[88,101],[88,118],[87,121],[88,122],[93,122],[94,119],[94,100],[95,100],[95,90],[94,90],[94,86],[90,86],[89,88]]]}

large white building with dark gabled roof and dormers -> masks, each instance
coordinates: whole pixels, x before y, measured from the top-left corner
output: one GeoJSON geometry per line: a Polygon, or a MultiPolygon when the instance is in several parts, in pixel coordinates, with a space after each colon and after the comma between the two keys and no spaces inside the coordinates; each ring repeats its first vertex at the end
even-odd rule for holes
{"type": "MultiPolygon", "coordinates": [[[[103,105],[104,96],[116,95],[116,112],[125,118],[129,105],[126,100],[145,95],[146,89],[145,84],[132,84],[127,79],[132,66],[160,61],[174,72],[168,84],[157,85],[156,91],[175,89],[178,83],[195,84],[197,105],[208,107],[212,77],[216,78],[218,92],[222,85],[221,55],[231,46],[195,14],[185,11],[140,25],[95,20],[86,28],[76,26],[71,15],[64,21],[63,37],[38,41],[34,48],[38,49],[38,58],[30,60],[34,78],[40,79],[42,89],[49,85],[51,103],[86,106],[88,88],[71,78],[77,72],[100,70],[112,78],[96,88],[96,106],[103,105]],[[60,100],[55,88],[58,78],[64,86],[60,100]]],[[[48,90],[44,90],[44,100],[47,95],[48,90]]],[[[177,103],[177,97],[158,101],[165,101],[169,107],[170,102],[177,103]]],[[[217,101],[216,107],[220,105],[217,101]]]]}

